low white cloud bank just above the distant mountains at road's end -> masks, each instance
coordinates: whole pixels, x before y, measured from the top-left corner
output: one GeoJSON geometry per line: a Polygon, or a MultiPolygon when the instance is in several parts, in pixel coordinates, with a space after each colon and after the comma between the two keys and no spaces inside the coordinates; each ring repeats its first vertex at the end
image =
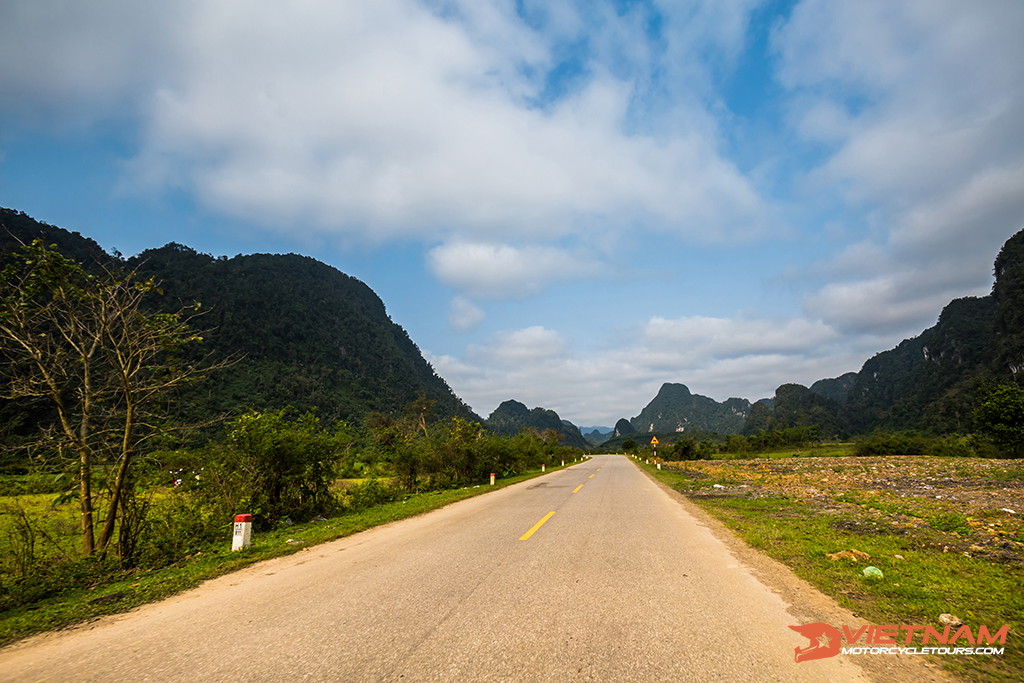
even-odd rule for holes
{"type": "Polygon", "coordinates": [[[856,371],[868,349],[843,344],[818,321],[651,318],[631,344],[573,349],[561,333],[530,327],[495,335],[462,357],[428,359],[483,417],[509,398],[554,410],[578,424],[614,424],[639,414],[665,382],[725,400],[757,400],[780,384],[811,384],[856,371]]]}

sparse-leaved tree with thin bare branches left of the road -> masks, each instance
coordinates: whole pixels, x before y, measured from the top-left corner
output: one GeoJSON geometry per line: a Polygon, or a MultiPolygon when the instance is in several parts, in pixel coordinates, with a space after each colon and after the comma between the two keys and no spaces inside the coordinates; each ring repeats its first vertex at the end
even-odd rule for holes
{"type": "Polygon", "coordinates": [[[166,428],[161,413],[169,392],[211,369],[178,354],[202,341],[189,327],[199,304],[147,310],[154,280],[108,266],[90,273],[41,240],[24,246],[0,278],[5,395],[52,403],[56,424],[43,440],[75,456],[82,552],[105,553],[133,496],[132,464],[166,428]],[[97,496],[100,472],[106,487],[97,496]]]}

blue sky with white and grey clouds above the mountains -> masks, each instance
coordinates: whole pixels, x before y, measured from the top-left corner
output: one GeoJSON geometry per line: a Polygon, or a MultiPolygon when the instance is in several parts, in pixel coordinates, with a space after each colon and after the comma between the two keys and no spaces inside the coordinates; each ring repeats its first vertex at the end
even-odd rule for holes
{"type": "Polygon", "coordinates": [[[0,0],[0,205],[359,278],[486,416],[859,370],[1024,227],[1020,0],[0,0]]]}

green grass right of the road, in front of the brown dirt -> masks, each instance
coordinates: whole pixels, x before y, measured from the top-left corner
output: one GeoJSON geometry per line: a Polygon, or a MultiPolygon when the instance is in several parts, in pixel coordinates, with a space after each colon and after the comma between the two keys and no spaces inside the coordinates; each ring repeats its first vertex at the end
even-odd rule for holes
{"type": "MultiPolygon", "coordinates": [[[[685,466],[686,464],[683,464],[685,466]]],[[[1010,625],[1002,656],[942,656],[951,673],[971,680],[1024,678],[1024,567],[949,552],[950,544],[971,532],[968,515],[949,511],[938,501],[887,501],[878,496],[847,494],[840,511],[826,511],[799,496],[723,493],[709,496],[707,478],[641,466],[668,485],[687,494],[757,550],[860,615],[864,623],[937,625],[952,613],[965,624],[994,629],[1010,625]],[[915,514],[927,523],[899,524],[892,514],[915,514]],[[867,562],[833,561],[829,553],[855,549],[867,562]],[[865,580],[867,565],[884,579],[865,580]]],[[[967,465],[964,465],[967,467],[967,465]]],[[[739,475],[713,477],[735,484],[739,475]]],[[[754,479],[746,479],[753,483],[754,479]]],[[[733,489],[734,490],[734,489],[733,489]]]]}

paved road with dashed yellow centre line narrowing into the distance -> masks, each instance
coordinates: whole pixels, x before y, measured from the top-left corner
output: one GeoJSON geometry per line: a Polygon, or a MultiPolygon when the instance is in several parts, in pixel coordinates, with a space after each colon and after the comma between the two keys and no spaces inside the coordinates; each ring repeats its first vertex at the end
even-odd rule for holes
{"type": "Polygon", "coordinates": [[[795,663],[788,626],[863,622],[712,526],[597,456],[16,643],[0,680],[941,679],[895,656],[795,663]]]}

